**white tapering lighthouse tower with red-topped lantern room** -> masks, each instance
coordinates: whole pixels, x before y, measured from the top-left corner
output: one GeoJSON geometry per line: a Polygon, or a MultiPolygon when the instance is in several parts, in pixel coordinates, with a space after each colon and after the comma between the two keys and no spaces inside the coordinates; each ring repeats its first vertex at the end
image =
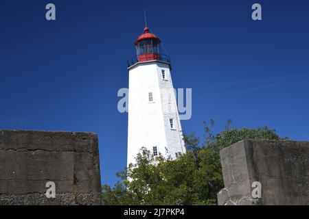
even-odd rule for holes
{"type": "Polygon", "coordinates": [[[128,60],[128,165],[142,147],[172,159],[185,153],[170,57],[160,44],[145,27],[135,40],[135,57],[128,60]]]}

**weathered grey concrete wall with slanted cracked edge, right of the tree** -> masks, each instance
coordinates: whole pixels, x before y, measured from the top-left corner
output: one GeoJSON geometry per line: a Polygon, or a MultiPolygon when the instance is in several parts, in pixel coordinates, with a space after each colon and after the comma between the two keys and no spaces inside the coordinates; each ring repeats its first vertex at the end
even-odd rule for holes
{"type": "Polygon", "coordinates": [[[309,142],[244,140],[220,151],[219,205],[309,205],[309,142]],[[252,198],[253,181],[262,197],[252,198]]]}

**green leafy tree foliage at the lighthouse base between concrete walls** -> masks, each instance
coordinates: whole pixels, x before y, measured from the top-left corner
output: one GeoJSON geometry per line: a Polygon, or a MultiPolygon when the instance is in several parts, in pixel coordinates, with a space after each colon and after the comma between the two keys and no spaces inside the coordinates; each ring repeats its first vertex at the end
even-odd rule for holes
{"type": "Polygon", "coordinates": [[[122,182],[102,186],[104,205],[216,205],[216,194],[224,188],[219,151],[244,139],[281,140],[274,129],[230,129],[214,135],[204,123],[204,142],[195,133],[184,135],[187,153],[172,160],[154,157],[141,149],[136,164],[117,176],[122,182]]]}

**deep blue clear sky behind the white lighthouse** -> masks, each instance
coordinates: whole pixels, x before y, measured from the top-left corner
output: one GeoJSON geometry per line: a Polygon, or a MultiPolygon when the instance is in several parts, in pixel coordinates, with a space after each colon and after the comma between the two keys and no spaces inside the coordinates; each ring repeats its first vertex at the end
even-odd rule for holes
{"type": "Polygon", "coordinates": [[[102,183],[126,166],[126,60],[148,26],[172,58],[175,88],[192,88],[187,133],[268,127],[309,140],[309,1],[1,0],[0,129],[93,131],[102,183]],[[56,5],[56,21],[45,5],[56,5]],[[252,21],[251,5],[262,5],[252,21]]]}

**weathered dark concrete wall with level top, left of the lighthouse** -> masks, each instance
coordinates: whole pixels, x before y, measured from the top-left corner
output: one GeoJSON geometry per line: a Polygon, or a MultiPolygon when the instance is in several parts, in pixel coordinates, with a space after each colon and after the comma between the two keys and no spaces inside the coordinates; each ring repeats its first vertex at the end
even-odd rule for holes
{"type": "Polygon", "coordinates": [[[100,187],[95,133],[0,130],[0,205],[98,205],[100,187]]]}

